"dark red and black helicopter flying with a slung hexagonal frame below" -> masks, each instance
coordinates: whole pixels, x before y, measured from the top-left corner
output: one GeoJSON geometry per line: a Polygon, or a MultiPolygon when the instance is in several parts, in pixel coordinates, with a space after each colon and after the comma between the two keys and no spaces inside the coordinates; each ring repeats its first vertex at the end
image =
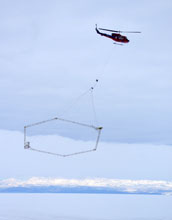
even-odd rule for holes
{"type": "Polygon", "coordinates": [[[123,43],[128,43],[129,40],[127,39],[126,36],[120,34],[120,33],[141,33],[140,31],[115,31],[115,30],[109,30],[109,29],[104,29],[104,28],[97,28],[97,24],[96,24],[96,28],[95,28],[97,34],[100,34],[101,36],[110,38],[118,43],[114,43],[114,44],[118,44],[118,45],[123,45],[123,43]],[[112,34],[106,34],[106,33],[102,33],[99,30],[104,30],[104,31],[109,31],[112,32],[112,34]]]}

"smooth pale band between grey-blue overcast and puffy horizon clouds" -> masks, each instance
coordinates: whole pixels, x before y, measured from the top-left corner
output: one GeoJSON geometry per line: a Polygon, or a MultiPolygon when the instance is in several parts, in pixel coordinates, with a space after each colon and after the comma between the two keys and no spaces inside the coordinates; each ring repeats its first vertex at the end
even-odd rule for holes
{"type": "MultiPolygon", "coordinates": [[[[100,139],[97,151],[63,158],[25,150],[23,137],[22,132],[0,130],[1,179],[28,179],[33,176],[60,179],[172,179],[171,146],[102,142],[100,139]]],[[[80,136],[77,140],[57,134],[36,135],[35,138],[37,143],[46,143],[47,149],[49,147],[57,153],[59,150],[62,152],[63,148],[68,152],[76,150],[76,147],[95,146],[95,141],[79,140],[82,138],[80,136]]],[[[43,145],[39,145],[39,149],[42,148],[43,145]]]]}

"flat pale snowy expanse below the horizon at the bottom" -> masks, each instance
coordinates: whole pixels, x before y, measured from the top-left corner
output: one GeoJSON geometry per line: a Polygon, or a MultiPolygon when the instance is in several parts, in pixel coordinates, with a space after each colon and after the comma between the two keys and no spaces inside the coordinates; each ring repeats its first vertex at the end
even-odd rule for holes
{"type": "Polygon", "coordinates": [[[172,220],[172,196],[0,194],[0,220],[172,220]]]}

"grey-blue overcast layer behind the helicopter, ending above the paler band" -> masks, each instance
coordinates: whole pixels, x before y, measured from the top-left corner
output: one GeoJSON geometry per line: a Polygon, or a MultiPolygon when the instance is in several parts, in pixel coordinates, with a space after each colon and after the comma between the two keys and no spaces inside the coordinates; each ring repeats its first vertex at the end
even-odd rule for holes
{"type": "MultiPolygon", "coordinates": [[[[0,128],[58,116],[103,73],[95,90],[103,140],[170,144],[171,8],[167,0],[1,1],[0,128]],[[115,46],[95,23],[142,34],[115,46]]],[[[90,117],[89,106],[79,108],[78,120],[90,117]]]]}

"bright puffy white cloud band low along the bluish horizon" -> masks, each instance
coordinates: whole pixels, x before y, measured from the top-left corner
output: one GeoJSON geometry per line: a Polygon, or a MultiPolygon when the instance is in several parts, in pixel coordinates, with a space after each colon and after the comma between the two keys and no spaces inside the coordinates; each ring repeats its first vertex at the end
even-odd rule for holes
{"type": "MultiPolygon", "coordinates": [[[[37,190],[41,187],[44,188],[44,192],[47,192],[50,187],[64,187],[71,189],[71,192],[75,188],[83,187],[94,190],[94,192],[110,192],[115,193],[140,193],[140,194],[172,194],[172,182],[170,181],[155,181],[155,180],[119,180],[119,179],[62,179],[62,178],[43,178],[32,177],[27,180],[21,179],[4,179],[0,180],[0,189],[7,188],[30,188],[37,187],[37,190]],[[101,190],[100,190],[101,189],[101,190]]],[[[56,192],[56,189],[53,192],[56,192]]],[[[84,188],[85,189],[85,188],[84,188]]],[[[85,191],[84,191],[85,192],[85,191]]]]}

